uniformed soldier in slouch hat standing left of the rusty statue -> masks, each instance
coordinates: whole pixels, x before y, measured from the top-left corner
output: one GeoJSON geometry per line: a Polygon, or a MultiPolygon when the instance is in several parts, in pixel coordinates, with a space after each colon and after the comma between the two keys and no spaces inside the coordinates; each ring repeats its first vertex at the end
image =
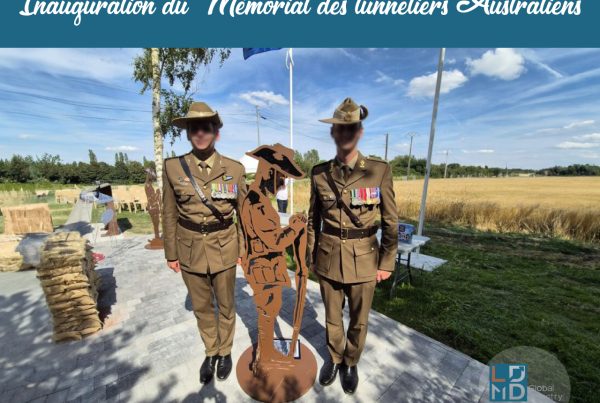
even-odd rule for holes
{"type": "Polygon", "coordinates": [[[165,257],[171,270],[181,272],[190,294],[206,351],[200,382],[208,383],[215,367],[221,380],[232,368],[235,267],[243,255],[243,234],[234,214],[239,217],[246,196],[246,174],[241,163],[215,150],[223,123],[207,104],[192,103],[187,116],[173,124],[187,130],[192,151],[165,160],[165,257]]]}

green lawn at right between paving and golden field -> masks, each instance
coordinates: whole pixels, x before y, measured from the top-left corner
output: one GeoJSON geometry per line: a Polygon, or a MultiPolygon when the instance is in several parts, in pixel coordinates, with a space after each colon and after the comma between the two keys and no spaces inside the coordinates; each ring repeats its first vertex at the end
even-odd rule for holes
{"type": "Polygon", "coordinates": [[[482,362],[527,345],[555,354],[572,401],[598,401],[600,248],[526,235],[428,228],[423,253],[448,263],[373,307],[482,362]]]}

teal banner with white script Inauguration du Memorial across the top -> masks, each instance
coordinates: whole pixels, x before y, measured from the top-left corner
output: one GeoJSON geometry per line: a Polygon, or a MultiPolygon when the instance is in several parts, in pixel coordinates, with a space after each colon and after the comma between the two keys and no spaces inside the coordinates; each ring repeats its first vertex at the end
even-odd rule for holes
{"type": "Polygon", "coordinates": [[[3,0],[2,47],[598,47],[597,0],[3,0]]]}

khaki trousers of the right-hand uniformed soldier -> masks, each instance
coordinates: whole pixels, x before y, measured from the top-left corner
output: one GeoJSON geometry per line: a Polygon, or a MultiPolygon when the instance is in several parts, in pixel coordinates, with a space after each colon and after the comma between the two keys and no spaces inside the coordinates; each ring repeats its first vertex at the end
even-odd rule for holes
{"type": "Polygon", "coordinates": [[[369,311],[375,292],[375,281],[342,284],[325,277],[319,280],[325,304],[327,348],[334,363],[358,364],[367,339],[369,311]],[[344,334],[343,304],[348,297],[350,324],[344,334]]]}

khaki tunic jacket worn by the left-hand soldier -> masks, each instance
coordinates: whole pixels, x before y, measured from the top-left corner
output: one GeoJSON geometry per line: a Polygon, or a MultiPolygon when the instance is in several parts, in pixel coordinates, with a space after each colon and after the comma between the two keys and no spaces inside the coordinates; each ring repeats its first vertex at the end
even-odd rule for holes
{"type": "MultiPolygon", "coordinates": [[[[203,179],[196,160],[190,152],[185,159],[196,183],[204,195],[225,218],[233,217],[246,196],[246,174],[244,166],[236,160],[215,153],[208,179],[203,179]],[[237,196],[215,198],[211,186],[237,184],[237,196]]],[[[197,224],[217,223],[219,220],[200,200],[194,187],[187,179],[178,158],[165,160],[163,171],[163,238],[167,260],[179,260],[181,268],[192,273],[218,273],[235,266],[243,255],[243,234],[239,224],[221,231],[201,234],[181,227],[177,221],[197,224]]]]}

